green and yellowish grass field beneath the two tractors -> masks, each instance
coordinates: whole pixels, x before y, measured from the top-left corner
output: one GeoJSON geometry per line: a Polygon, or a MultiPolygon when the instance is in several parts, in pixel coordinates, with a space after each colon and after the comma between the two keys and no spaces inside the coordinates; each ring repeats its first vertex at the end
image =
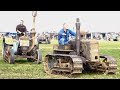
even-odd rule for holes
{"type": "MultiPolygon", "coordinates": [[[[44,56],[52,51],[52,44],[41,44],[40,50],[44,56]]],[[[2,41],[0,40],[0,79],[120,79],[120,42],[100,41],[100,54],[113,56],[117,60],[118,70],[116,75],[104,75],[100,73],[84,73],[77,77],[67,77],[61,75],[47,75],[44,72],[43,63],[36,65],[27,62],[26,59],[18,58],[15,64],[5,63],[2,59],[2,41]]]]}

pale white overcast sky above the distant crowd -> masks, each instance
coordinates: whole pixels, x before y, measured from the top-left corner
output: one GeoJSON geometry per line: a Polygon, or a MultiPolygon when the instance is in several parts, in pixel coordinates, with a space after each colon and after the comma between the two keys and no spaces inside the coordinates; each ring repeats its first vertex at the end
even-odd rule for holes
{"type": "MultiPolygon", "coordinates": [[[[120,31],[120,11],[38,11],[36,31],[59,31],[63,23],[68,23],[73,29],[76,18],[80,18],[81,29],[85,31],[120,31]]],[[[21,19],[29,31],[32,28],[32,11],[0,11],[0,31],[15,32],[21,19]]]]}

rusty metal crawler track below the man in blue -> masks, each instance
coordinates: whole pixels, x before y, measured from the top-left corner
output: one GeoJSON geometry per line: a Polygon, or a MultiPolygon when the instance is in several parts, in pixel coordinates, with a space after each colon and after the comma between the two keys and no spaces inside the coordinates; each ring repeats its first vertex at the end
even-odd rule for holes
{"type": "MultiPolygon", "coordinates": [[[[56,59],[57,60],[57,59],[56,59]]],[[[56,61],[55,60],[55,61],[56,61]]],[[[55,62],[54,62],[55,63],[55,62]]],[[[61,63],[62,64],[62,63],[61,63]]],[[[54,66],[52,66],[54,67],[54,66]]],[[[45,61],[44,61],[44,69],[45,69],[45,72],[48,73],[48,74],[52,74],[52,72],[54,71],[61,71],[61,72],[69,72],[70,74],[78,74],[78,73],[82,73],[83,71],[83,62],[82,62],[82,59],[77,56],[77,55],[66,55],[66,54],[49,54],[45,57],[45,61]],[[55,68],[49,68],[49,64],[51,62],[49,62],[49,58],[50,57],[57,57],[58,59],[61,59],[61,58],[67,58],[69,59],[67,64],[69,63],[70,64],[70,67],[69,68],[65,68],[61,65],[58,65],[58,67],[55,67],[55,68]],[[61,66],[61,67],[60,67],[61,66]]]]}

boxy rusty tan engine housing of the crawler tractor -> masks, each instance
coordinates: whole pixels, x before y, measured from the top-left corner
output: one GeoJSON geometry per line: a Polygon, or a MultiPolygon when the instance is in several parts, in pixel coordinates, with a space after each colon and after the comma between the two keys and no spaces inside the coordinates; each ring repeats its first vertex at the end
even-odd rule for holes
{"type": "Polygon", "coordinates": [[[81,40],[80,53],[86,60],[99,61],[99,43],[97,40],[81,40]]]}

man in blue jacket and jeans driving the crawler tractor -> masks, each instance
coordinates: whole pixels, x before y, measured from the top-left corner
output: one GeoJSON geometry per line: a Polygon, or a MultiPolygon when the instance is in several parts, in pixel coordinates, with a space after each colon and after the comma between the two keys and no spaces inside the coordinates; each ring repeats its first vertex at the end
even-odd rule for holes
{"type": "Polygon", "coordinates": [[[60,45],[68,44],[70,34],[72,36],[76,36],[75,32],[68,29],[68,24],[64,23],[63,24],[63,29],[61,29],[60,32],[58,33],[58,42],[59,42],[59,44],[60,45]]]}

